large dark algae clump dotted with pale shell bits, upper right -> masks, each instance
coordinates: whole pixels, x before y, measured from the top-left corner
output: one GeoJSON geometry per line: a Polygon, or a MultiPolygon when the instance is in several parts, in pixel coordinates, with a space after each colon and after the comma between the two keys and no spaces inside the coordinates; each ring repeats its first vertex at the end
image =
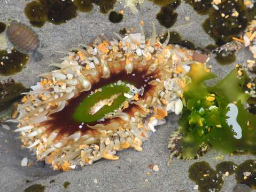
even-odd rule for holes
{"type": "Polygon", "coordinates": [[[247,9],[241,0],[214,5],[203,23],[205,32],[222,45],[239,35],[247,26],[247,9]]]}

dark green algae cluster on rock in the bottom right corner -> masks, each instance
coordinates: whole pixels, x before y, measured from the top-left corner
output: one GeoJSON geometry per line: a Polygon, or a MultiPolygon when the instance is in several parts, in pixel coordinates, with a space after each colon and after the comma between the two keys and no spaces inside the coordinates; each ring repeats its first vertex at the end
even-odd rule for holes
{"type": "Polygon", "coordinates": [[[189,178],[195,181],[201,192],[220,191],[224,180],[222,175],[230,176],[235,173],[237,183],[245,184],[256,189],[256,161],[249,159],[239,165],[231,161],[224,161],[212,169],[207,162],[196,162],[189,167],[189,178]],[[228,173],[226,173],[228,172],[228,173]],[[245,177],[245,174],[248,176],[245,177]]]}

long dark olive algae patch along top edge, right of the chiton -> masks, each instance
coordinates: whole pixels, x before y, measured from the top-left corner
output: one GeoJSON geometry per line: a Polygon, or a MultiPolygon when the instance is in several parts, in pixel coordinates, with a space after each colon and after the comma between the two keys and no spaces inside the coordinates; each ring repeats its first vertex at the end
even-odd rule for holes
{"type": "Polygon", "coordinates": [[[34,27],[42,27],[46,21],[60,25],[77,16],[77,11],[90,12],[94,4],[103,14],[114,8],[117,0],[38,0],[26,4],[25,15],[34,27]]]}

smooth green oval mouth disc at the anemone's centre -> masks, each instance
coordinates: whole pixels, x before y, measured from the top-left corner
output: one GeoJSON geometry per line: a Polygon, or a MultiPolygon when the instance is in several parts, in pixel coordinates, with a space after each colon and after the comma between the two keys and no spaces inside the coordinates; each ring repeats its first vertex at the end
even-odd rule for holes
{"type": "Polygon", "coordinates": [[[117,82],[104,85],[98,89],[97,92],[88,95],[83,99],[80,105],[75,109],[73,118],[76,121],[83,123],[98,121],[99,119],[105,117],[106,114],[117,110],[127,99],[124,93],[128,93],[129,91],[129,87],[126,83],[124,84],[124,82],[122,82],[121,85],[118,85],[117,82]],[[96,113],[91,113],[92,108],[94,108],[97,103],[111,99],[111,103],[106,103],[96,113]]]}

